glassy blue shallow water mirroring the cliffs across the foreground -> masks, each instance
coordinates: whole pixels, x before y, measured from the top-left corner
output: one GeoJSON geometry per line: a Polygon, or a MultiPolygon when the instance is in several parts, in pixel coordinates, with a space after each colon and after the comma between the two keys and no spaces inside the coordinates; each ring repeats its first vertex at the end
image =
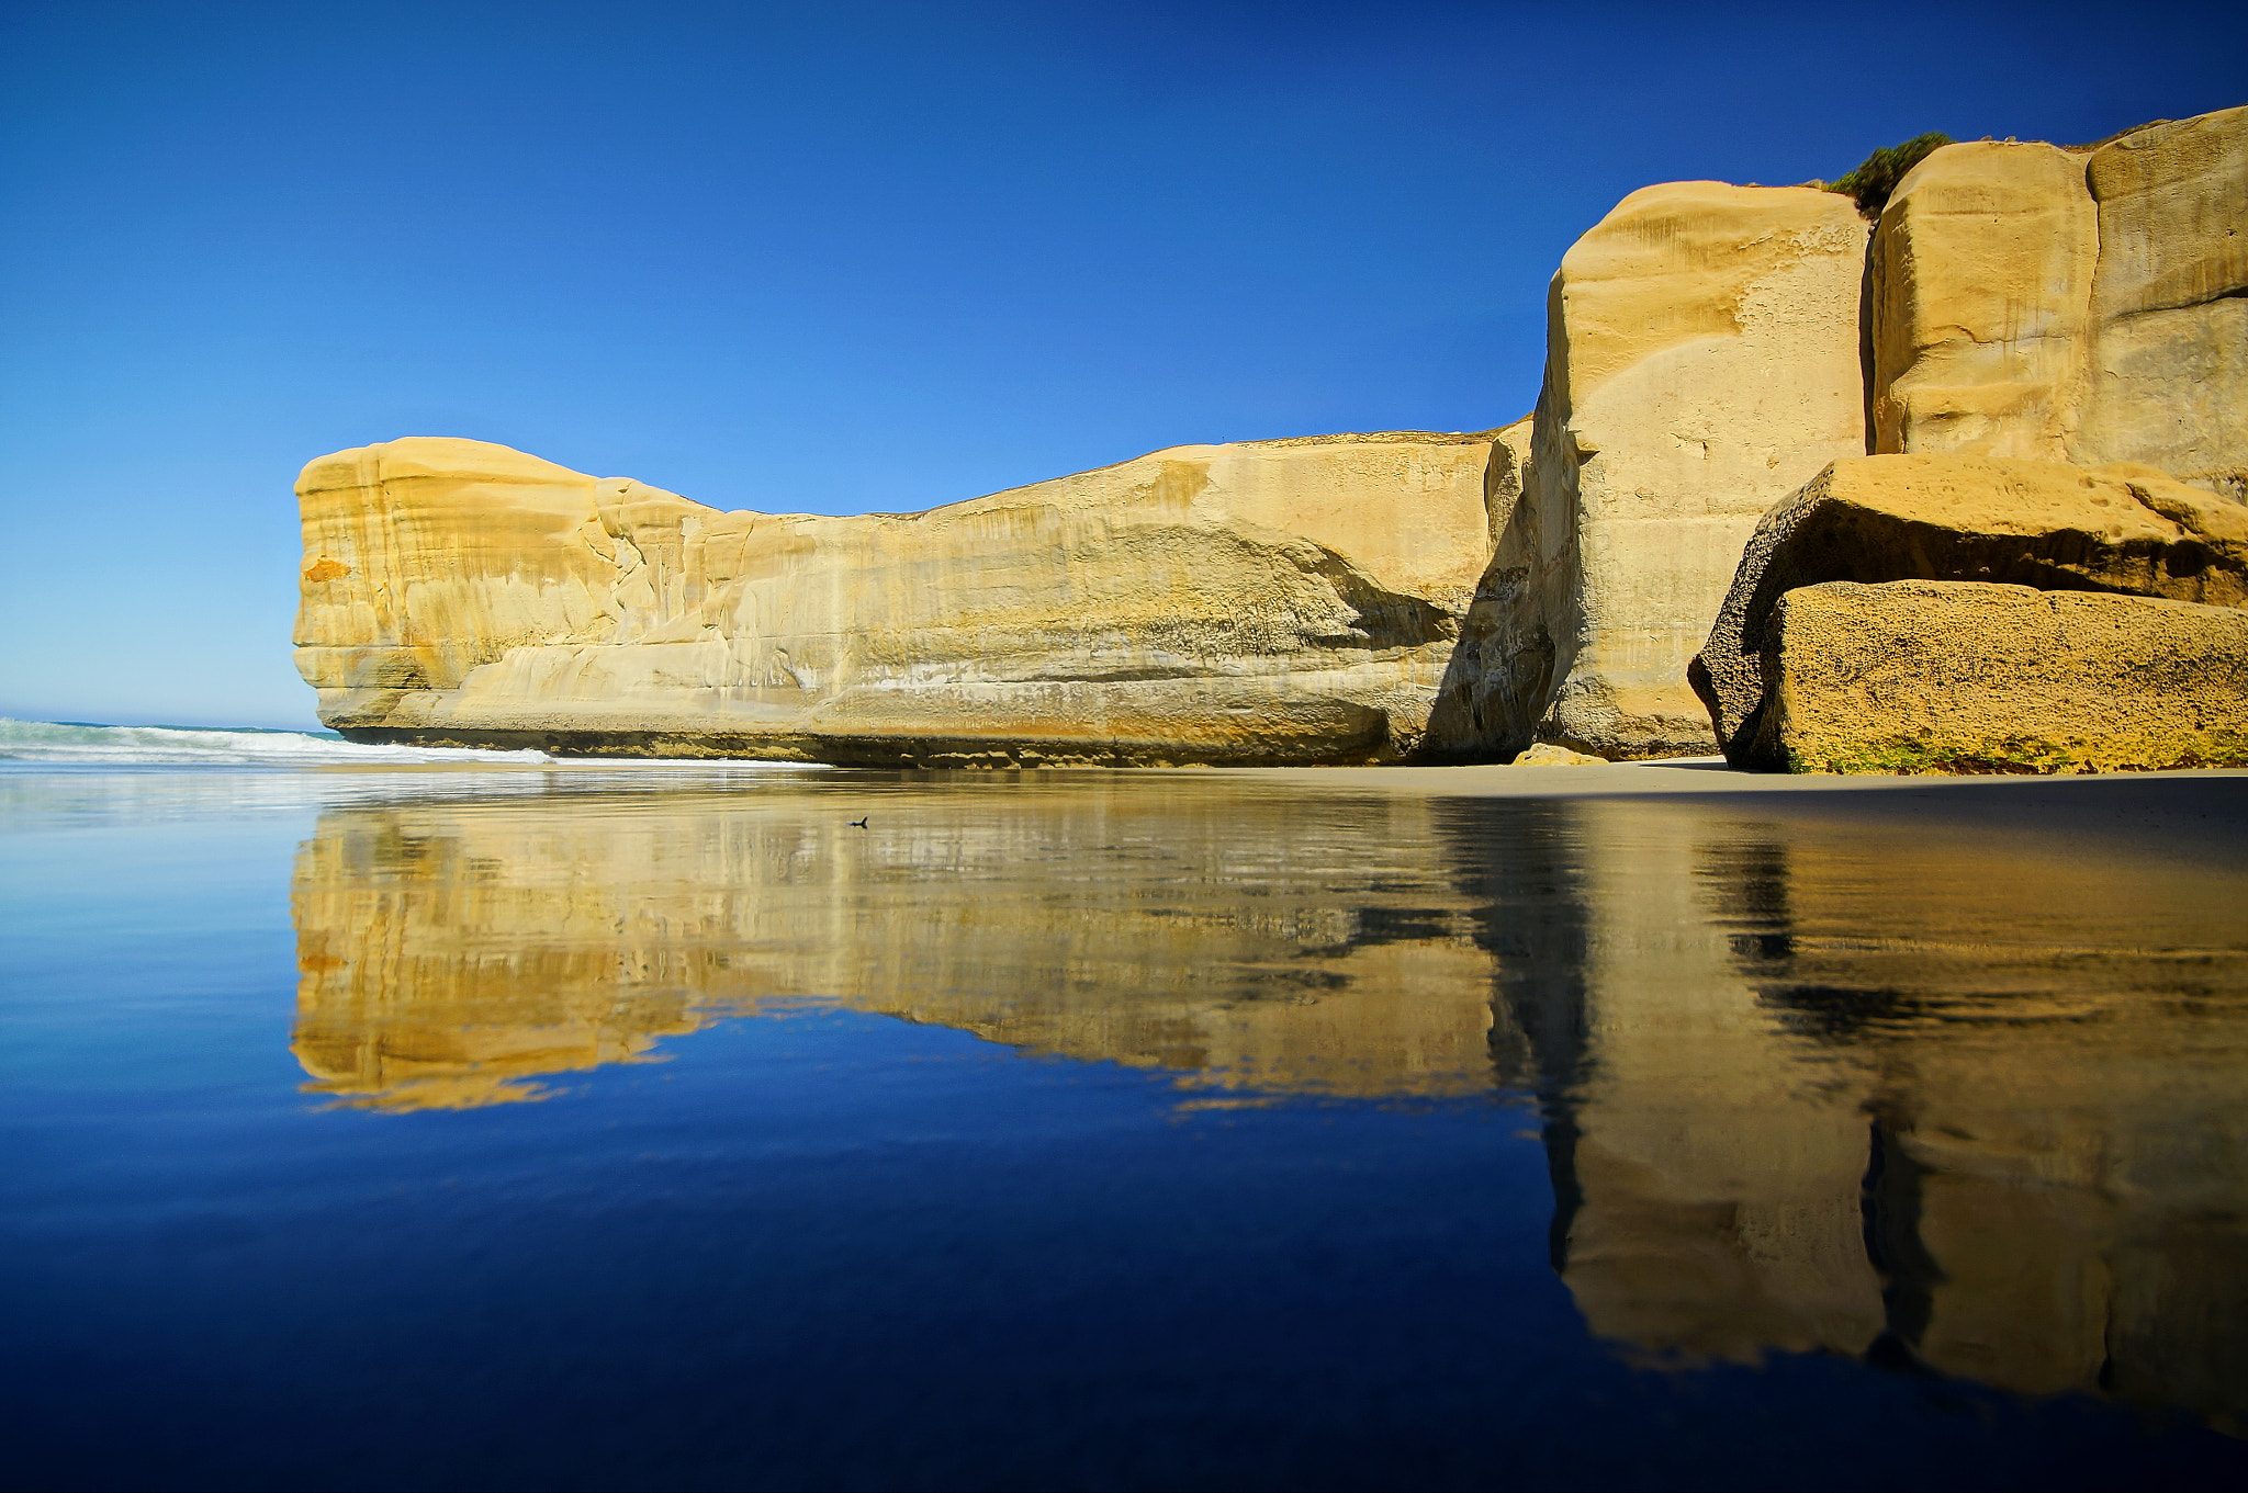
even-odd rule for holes
{"type": "Polygon", "coordinates": [[[4,1477],[2248,1480],[2248,777],[1425,781],[0,763],[4,1477]]]}

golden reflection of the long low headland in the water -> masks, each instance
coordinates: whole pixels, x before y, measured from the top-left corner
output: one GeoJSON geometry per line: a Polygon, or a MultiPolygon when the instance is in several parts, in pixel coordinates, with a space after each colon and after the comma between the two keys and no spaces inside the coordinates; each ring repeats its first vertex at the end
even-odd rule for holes
{"type": "Polygon", "coordinates": [[[330,810],[297,1055],[348,1102],[501,1102],[816,999],[1185,1084],[1490,1089],[1490,961],[1425,802],[883,788],[330,810]]]}

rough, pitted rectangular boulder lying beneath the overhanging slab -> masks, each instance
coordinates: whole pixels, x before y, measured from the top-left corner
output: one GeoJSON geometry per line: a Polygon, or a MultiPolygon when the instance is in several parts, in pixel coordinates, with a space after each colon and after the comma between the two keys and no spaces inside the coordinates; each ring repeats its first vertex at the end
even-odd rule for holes
{"type": "Polygon", "coordinates": [[[2248,611],[1978,581],[1828,581],[1765,629],[1749,766],[2248,766],[2248,611]]]}

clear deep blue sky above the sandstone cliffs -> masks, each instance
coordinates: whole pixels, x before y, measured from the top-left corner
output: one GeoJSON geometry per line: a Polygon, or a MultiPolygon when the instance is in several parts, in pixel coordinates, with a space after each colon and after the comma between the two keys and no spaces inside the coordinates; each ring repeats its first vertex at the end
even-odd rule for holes
{"type": "Polygon", "coordinates": [[[0,714],[308,725],[324,451],[865,512],[1488,429],[1637,186],[2232,103],[2241,4],[0,4],[0,714]]]}

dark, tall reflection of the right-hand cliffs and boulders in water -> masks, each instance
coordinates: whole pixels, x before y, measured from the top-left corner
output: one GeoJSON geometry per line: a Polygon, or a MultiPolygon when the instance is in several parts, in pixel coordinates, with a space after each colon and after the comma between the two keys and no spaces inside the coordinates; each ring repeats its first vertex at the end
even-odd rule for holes
{"type": "Polygon", "coordinates": [[[1450,819],[1502,912],[1502,1026],[1533,1046],[1556,1266],[1589,1327],[1655,1358],[1828,1349],[2239,1430],[2237,860],[1774,808],[1450,819]],[[1508,882],[1540,862],[1571,878],[1531,929],[1504,898],[1535,907],[1508,882]]]}

